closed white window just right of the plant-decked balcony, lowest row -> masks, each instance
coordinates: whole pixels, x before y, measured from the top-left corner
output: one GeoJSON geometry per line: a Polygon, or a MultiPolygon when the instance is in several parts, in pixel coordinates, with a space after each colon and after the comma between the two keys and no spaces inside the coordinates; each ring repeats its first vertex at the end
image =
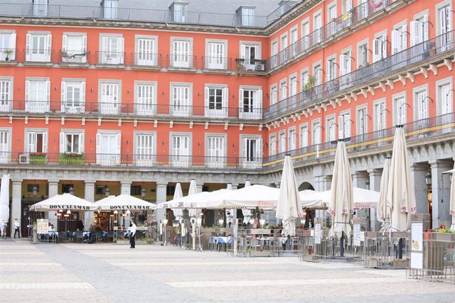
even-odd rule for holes
{"type": "Polygon", "coordinates": [[[97,165],[120,165],[120,133],[117,131],[99,131],[97,133],[97,165]]]}

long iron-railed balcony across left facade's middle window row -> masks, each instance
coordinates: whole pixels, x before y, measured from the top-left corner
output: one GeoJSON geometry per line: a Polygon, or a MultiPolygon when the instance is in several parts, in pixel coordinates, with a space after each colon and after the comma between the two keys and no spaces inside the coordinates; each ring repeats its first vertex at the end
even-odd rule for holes
{"type": "Polygon", "coordinates": [[[0,100],[0,112],[4,114],[95,114],[102,116],[146,116],[148,118],[261,120],[262,108],[209,106],[185,106],[178,104],[61,102],[0,100]]]}

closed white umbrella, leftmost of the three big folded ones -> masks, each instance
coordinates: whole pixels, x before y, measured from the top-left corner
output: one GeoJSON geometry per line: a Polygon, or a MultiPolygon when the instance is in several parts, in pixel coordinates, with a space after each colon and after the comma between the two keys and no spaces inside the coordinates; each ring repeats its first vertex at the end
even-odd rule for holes
{"type": "Polygon", "coordinates": [[[299,187],[294,174],[291,156],[284,158],[282,181],[279,186],[277,214],[278,219],[283,221],[284,236],[295,236],[296,226],[294,220],[304,216],[300,203],[299,187]]]}

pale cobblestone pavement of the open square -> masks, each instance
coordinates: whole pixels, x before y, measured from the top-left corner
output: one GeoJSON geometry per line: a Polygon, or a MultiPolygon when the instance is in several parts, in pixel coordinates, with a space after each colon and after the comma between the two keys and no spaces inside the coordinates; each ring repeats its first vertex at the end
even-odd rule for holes
{"type": "Polygon", "coordinates": [[[0,302],[455,302],[455,285],[296,257],[0,241],[0,302]]]}

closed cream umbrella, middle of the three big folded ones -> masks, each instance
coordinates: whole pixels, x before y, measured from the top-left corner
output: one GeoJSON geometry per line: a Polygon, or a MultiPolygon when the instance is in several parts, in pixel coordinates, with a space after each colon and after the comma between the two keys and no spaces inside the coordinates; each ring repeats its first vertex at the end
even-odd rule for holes
{"type": "Polygon", "coordinates": [[[350,236],[350,215],[353,214],[353,180],[346,145],[338,141],[333,166],[331,198],[327,211],[332,215],[332,231],[341,238],[343,233],[350,236]]]}

